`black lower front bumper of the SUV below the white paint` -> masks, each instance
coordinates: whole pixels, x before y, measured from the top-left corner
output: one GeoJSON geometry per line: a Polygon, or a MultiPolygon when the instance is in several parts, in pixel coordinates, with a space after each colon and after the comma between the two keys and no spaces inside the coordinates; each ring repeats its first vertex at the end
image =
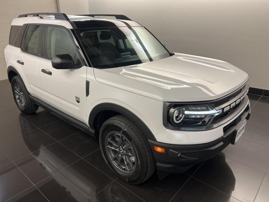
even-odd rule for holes
{"type": "Polygon", "coordinates": [[[240,127],[245,120],[250,118],[249,106],[234,121],[223,127],[222,137],[208,143],[178,145],[161,143],[149,139],[149,144],[157,162],[157,169],[169,173],[183,173],[194,164],[218,154],[232,142],[236,128],[240,127]],[[165,148],[165,153],[156,152],[154,146],[165,148]]]}

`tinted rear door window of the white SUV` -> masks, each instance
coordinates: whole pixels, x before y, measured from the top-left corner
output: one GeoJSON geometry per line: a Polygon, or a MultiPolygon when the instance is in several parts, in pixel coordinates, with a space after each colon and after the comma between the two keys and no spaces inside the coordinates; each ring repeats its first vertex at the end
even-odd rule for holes
{"type": "Polygon", "coordinates": [[[25,51],[38,56],[43,54],[44,26],[30,25],[25,36],[25,51]]]}

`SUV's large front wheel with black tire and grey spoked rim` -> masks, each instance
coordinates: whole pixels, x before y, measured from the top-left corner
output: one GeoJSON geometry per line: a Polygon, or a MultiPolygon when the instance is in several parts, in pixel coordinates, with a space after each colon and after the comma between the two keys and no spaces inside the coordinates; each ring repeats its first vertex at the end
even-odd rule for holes
{"type": "Polygon", "coordinates": [[[114,116],[103,123],[99,143],[106,164],[125,182],[140,184],[154,173],[156,162],[147,139],[125,116],[114,116]]]}

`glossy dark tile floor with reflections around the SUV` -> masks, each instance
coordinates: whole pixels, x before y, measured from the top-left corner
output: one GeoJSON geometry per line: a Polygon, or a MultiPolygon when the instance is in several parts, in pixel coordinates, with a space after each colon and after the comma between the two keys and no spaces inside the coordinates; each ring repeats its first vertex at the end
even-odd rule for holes
{"type": "Polygon", "coordinates": [[[54,115],[17,109],[0,81],[0,201],[269,201],[269,98],[249,94],[251,118],[236,145],[183,174],[129,185],[99,143],[54,115]]]}

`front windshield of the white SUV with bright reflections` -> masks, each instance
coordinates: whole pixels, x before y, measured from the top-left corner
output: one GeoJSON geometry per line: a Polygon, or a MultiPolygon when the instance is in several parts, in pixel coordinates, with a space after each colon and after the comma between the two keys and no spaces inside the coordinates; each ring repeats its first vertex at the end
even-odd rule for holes
{"type": "Polygon", "coordinates": [[[95,68],[113,68],[169,57],[163,45],[144,27],[76,29],[95,68]]]}

